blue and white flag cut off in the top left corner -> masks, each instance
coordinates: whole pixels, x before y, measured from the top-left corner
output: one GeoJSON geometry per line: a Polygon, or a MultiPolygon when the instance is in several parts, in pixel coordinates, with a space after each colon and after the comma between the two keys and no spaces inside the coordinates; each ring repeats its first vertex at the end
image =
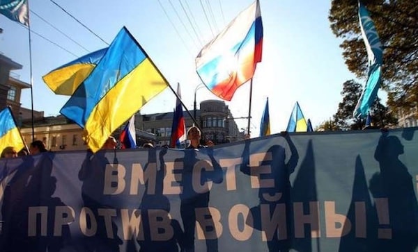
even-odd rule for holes
{"type": "Polygon", "coordinates": [[[0,13],[15,22],[29,26],[27,0],[0,1],[0,13]]]}

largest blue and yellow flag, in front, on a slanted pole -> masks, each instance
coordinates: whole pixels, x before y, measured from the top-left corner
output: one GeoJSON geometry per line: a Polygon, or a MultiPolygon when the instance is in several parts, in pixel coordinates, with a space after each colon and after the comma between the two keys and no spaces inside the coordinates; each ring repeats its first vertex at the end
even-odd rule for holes
{"type": "Polygon", "coordinates": [[[84,140],[96,152],[116,128],[168,85],[123,27],[60,112],[84,128],[84,140]]]}

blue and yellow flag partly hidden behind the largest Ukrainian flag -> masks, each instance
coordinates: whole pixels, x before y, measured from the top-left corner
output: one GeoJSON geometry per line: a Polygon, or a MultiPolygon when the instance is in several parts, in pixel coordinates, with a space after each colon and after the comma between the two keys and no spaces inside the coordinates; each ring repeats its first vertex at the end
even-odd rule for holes
{"type": "Polygon", "coordinates": [[[107,48],[88,53],[61,67],[58,67],[45,76],[43,81],[55,94],[72,95],[77,87],[91,74],[98,62],[106,53],[107,48]]]}

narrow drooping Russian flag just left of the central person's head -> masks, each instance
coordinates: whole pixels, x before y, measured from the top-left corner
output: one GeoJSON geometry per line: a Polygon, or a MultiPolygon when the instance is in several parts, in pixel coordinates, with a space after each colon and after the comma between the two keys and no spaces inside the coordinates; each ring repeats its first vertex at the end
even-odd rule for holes
{"type": "MultiPolygon", "coordinates": [[[[181,99],[180,83],[177,83],[177,94],[181,99]]],[[[183,117],[183,107],[180,100],[176,99],[176,110],[173,115],[173,124],[171,125],[170,148],[180,146],[180,142],[186,140],[186,124],[183,117]]]]}

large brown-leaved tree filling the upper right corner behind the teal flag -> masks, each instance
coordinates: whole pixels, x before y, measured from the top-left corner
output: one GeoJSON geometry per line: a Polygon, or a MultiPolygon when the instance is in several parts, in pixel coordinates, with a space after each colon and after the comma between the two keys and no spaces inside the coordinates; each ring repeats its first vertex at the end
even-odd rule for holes
{"type": "MultiPolygon", "coordinates": [[[[393,112],[418,106],[418,4],[411,0],[362,0],[369,10],[383,47],[382,88],[393,112]]],[[[367,76],[357,0],[332,0],[329,20],[348,69],[367,76]]]]}

